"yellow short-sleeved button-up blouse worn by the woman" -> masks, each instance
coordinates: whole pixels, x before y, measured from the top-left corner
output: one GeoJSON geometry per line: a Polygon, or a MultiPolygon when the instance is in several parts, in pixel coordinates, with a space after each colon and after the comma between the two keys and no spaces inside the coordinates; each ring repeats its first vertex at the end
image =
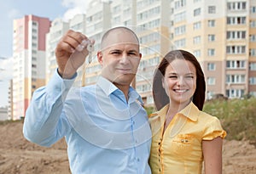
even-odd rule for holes
{"type": "Polygon", "coordinates": [[[217,117],[197,109],[192,102],[175,115],[163,133],[167,104],[160,111],[149,115],[153,134],[149,164],[152,174],[201,174],[202,140],[224,138],[217,117]]]}

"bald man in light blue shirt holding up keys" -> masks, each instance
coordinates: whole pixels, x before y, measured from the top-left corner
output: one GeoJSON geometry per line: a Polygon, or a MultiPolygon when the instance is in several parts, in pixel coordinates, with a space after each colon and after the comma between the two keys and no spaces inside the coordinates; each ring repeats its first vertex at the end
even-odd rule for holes
{"type": "Polygon", "coordinates": [[[116,27],[102,36],[96,85],[71,88],[91,42],[68,31],[55,49],[58,69],[26,110],[25,138],[51,146],[65,137],[73,173],[151,173],[151,131],[142,99],[130,87],[140,59],[136,34],[116,27]]]}

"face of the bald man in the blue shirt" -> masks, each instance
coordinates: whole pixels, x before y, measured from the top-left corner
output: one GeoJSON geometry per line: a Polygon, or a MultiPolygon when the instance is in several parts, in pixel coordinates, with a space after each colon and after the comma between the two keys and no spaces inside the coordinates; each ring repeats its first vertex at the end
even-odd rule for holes
{"type": "Polygon", "coordinates": [[[129,31],[116,30],[102,45],[97,53],[102,76],[116,85],[130,85],[142,57],[136,37],[129,31]]]}

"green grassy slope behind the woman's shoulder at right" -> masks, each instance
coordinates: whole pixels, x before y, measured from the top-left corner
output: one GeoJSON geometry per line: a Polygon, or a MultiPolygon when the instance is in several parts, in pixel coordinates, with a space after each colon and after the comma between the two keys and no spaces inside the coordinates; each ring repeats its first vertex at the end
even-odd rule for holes
{"type": "Polygon", "coordinates": [[[217,116],[226,139],[250,140],[256,145],[256,98],[211,100],[204,105],[203,111],[217,116]]]}

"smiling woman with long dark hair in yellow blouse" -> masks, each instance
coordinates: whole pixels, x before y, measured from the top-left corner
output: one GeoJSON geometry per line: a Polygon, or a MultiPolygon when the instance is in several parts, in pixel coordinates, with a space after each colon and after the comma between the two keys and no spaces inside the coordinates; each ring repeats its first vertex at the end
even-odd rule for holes
{"type": "Polygon", "coordinates": [[[166,54],[155,70],[154,104],[149,115],[153,132],[149,164],[152,173],[222,172],[226,132],[218,118],[201,111],[206,82],[201,65],[191,53],[166,54]]]}

